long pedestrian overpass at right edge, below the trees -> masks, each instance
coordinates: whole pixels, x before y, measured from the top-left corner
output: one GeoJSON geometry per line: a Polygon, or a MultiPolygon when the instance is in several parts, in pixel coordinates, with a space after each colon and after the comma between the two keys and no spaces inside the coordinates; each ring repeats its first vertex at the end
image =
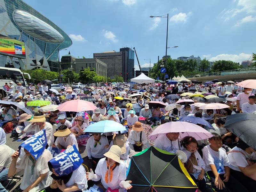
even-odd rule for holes
{"type": "Polygon", "coordinates": [[[220,81],[241,81],[246,79],[256,79],[256,67],[203,73],[200,76],[194,75],[188,76],[187,78],[189,80],[197,80],[199,82],[212,81],[213,79],[219,79],[220,81]]]}

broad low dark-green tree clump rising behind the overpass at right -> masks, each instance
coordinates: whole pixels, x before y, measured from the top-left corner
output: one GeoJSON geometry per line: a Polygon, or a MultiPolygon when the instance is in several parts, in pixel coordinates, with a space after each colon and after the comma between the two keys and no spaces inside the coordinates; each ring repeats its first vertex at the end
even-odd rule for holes
{"type": "Polygon", "coordinates": [[[217,71],[228,71],[228,70],[233,70],[233,69],[239,69],[243,68],[242,65],[239,63],[233,62],[233,61],[226,61],[226,60],[218,60],[214,61],[212,65],[212,70],[214,72],[217,71]]]}

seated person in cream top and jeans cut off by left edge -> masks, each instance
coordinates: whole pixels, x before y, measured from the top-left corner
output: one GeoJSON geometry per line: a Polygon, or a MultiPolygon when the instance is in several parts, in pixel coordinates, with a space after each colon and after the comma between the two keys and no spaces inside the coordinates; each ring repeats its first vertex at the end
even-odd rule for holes
{"type": "MultiPolygon", "coordinates": [[[[2,129],[2,128],[1,128],[2,129]]],[[[0,145],[0,191],[7,192],[2,181],[8,179],[8,171],[15,151],[7,145],[0,145]]]]}

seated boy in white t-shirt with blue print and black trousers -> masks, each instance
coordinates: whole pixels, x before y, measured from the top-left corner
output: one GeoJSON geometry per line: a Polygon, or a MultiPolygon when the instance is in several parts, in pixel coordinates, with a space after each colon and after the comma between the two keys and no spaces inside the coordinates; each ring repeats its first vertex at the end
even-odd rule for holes
{"type": "Polygon", "coordinates": [[[212,133],[209,139],[210,145],[203,148],[203,160],[205,171],[211,180],[215,191],[226,192],[228,188],[232,192],[248,191],[238,180],[230,175],[229,160],[226,152],[222,149],[222,138],[212,133]]]}

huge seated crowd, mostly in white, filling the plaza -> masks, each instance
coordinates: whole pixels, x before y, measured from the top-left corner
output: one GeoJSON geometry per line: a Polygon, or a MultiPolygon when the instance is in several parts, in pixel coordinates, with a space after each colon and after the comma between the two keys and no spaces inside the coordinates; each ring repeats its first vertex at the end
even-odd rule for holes
{"type": "MultiPolygon", "coordinates": [[[[256,188],[255,149],[225,128],[228,116],[256,114],[255,89],[234,82],[172,81],[137,84],[133,88],[123,83],[74,90],[62,86],[58,91],[49,89],[47,84],[31,83],[27,93],[19,83],[17,87],[12,82],[8,86],[7,96],[0,101],[0,181],[24,170],[16,191],[86,191],[92,187],[92,181],[104,191],[132,189],[132,181],[126,180],[131,156],[151,145],[172,154],[183,151],[187,156],[183,165],[198,191],[206,192],[207,182],[218,192],[252,192],[256,188]],[[48,103],[28,105],[35,100],[48,103]],[[89,101],[95,109],[82,112],[57,109],[71,100],[89,101]],[[13,102],[27,108],[29,113],[15,108],[13,102]],[[227,108],[201,109],[198,105],[207,103],[226,104],[227,108]],[[56,108],[44,110],[44,105],[56,108]],[[148,139],[155,126],[186,117],[212,124],[213,129],[197,124],[211,132],[212,137],[196,140],[192,136],[180,138],[180,132],[169,132],[154,142],[148,139]],[[106,120],[125,125],[127,131],[86,132],[90,125],[106,120]],[[6,145],[8,132],[23,141],[19,149],[6,145]],[[88,135],[86,143],[77,142],[77,138],[88,135]],[[59,150],[57,154],[52,153],[52,148],[59,150]],[[83,164],[92,163],[88,170],[78,164],[79,153],[84,150],[87,156],[83,164]]],[[[5,191],[0,183],[0,192],[5,191]]]]}

